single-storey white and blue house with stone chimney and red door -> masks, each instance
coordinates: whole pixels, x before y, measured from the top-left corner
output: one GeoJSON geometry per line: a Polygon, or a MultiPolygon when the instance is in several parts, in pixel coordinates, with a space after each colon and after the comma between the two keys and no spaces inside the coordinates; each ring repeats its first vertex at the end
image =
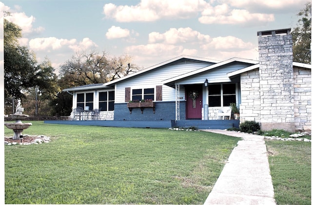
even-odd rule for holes
{"type": "Polygon", "coordinates": [[[211,123],[255,120],[262,130],[310,131],[312,66],[292,61],[290,31],[257,32],[259,61],[182,55],[105,84],[63,91],[73,95],[73,108],[101,108],[102,126],[168,127],[164,122],[170,121],[209,129],[215,128],[211,123]],[[153,103],[130,103],[141,99],[153,103]],[[239,120],[218,120],[219,110],[231,102],[239,106],[239,120]]]}

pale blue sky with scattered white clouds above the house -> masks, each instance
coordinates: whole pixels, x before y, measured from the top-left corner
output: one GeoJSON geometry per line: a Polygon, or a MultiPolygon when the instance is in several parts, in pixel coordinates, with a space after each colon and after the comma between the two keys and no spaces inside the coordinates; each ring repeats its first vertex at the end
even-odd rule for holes
{"type": "Polygon", "coordinates": [[[77,52],[91,51],[127,54],[143,68],[180,55],[257,60],[257,32],[293,29],[307,2],[2,0],[0,10],[22,28],[20,45],[34,51],[39,62],[50,59],[58,73],[77,52]]]}

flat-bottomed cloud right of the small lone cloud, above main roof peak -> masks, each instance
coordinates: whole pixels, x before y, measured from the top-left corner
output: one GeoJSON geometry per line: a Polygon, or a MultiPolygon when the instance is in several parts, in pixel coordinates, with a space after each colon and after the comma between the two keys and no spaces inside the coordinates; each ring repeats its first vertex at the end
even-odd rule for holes
{"type": "Polygon", "coordinates": [[[152,32],[149,34],[149,42],[150,43],[169,43],[169,44],[176,44],[176,43],[192,43],[204,41],[208,42],[210,40],[209,35],[200,34],[197,31],[192,30],[191,28],[170,28],[169,31],[160,34],[158,32],[152,32]]]}

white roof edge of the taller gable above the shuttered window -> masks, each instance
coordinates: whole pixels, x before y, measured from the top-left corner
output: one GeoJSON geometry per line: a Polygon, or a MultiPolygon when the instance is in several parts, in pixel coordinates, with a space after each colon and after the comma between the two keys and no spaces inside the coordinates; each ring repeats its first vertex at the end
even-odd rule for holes
{"type": "Polygon", "coordinates": [[[128,78],[137,76],[137,75],[139,75],[139,74],[141,74],[141,73],[144,73],[144,72],[153,70],[153,69],[155,69],[155,68],[159,68],[159,67],[161,67],[161,66],[170,64],[170,63],[172,63],[172,62],[178,61],[178,60],[183,59],[183,58],[191,59],[191,60],[197,60],[197,61],[211,62],[211,63],[219,63],[219,62],[220,62],[219,60],[213,60],[213,59],[208,59],[208,58],[195,57],[195,56],[190,56],[190,55],[180,55],[180,56],[178,56],[178,57],[175,57],[175,58],[172,58],[172,59],[170,59],[170,60],[164,61],[164,62],[162,62],[162,63],[156,64],[156,65],[151,66],[151,67],[149,67],[149,68],[145,68],[145,69],[139,70],[139,71],[137,71],[137,72],[135,72],[135,73],[132,73],[132,74],[130,74],[130,75],[124,76],[124,77],[122,77],[122,78],[118,78],[118,79],[116,79],[116,80],[114,80],[114,81],[107,82],[107,83],[105,83],[104,85],[106,85],[106,86],[114,85],[114,84],[116,84],[117,82],[126,80],[126,79],[128,79],[128,78]]]}

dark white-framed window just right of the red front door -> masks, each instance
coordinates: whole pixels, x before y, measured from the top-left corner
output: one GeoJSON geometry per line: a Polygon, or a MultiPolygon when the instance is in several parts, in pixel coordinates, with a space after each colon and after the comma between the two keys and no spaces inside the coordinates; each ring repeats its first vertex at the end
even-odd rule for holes
{"type": "Polygon", "coordinates": [[[208,85],[210,107],[230,106],[236,103],[236,84],[208,85]]]}

